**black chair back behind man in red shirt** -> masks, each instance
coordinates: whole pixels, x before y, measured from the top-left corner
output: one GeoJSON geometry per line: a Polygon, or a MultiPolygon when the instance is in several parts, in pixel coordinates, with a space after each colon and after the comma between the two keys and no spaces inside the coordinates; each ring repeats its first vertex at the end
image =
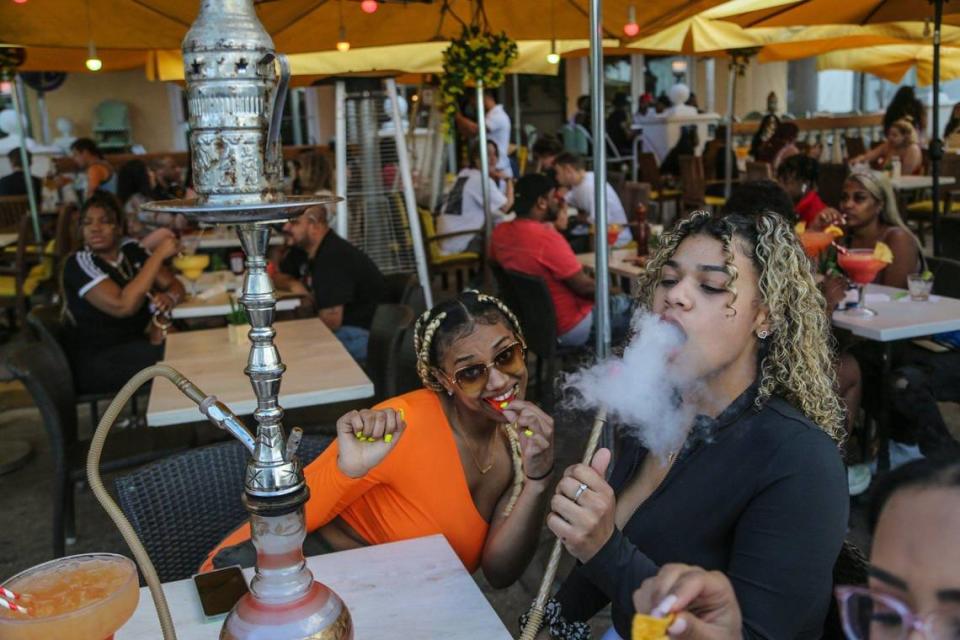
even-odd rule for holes
{"type": "Polygon", "coordinates": [[[552,408],[557,363],[582,349],[557,343],[557,312],[543,278],[509,269],[502,269],[500,277],[504,278],[504,302],[520,320],[527,348],[537,356],[534,379],[540,402],[552,408]]]}

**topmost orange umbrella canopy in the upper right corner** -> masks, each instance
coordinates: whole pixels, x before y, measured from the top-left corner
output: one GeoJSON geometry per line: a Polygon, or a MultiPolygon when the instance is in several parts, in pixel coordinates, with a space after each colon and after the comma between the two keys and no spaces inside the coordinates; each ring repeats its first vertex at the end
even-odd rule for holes
{"type": "MultiPolygon", "coordinates": [[[[933,4],[927,0],[798,0],[780,7],[744,6],[740,15],[724,20],[743,27],[784,27],[817,24],[877,24],[933,19],[933,4]]],[[[946,2],[943,24],[960,25],[960,2],[946,2]]]]}

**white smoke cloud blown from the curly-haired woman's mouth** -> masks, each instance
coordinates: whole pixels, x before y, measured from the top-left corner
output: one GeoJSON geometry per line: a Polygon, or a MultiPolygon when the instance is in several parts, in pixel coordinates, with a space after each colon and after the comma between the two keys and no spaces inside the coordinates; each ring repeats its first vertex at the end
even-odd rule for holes
{"type": "Polygon", "coordinates": [[[638,312],[634,335],[622,357],[611,357],[566,376],[568,402],[580,408],[607,407],[607,415],[631,429],[643,446],[666,458],[686,439],[694,418],[682,403],[692,383],[670,362],[685,337],[656,315],[638,312]]]}

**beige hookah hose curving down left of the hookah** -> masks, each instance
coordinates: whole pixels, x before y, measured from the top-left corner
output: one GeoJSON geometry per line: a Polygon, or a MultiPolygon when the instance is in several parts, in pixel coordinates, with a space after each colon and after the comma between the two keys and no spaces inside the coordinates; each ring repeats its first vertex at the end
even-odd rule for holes
{"type": "Polygon", "coordinates": [[[160,618],[160,629],[163,632],[164,640],[176,640],[177,634],[173,628],[173,618],[170,617],[170,608],[167,606],[167,599],[163,595],[163,587],[160,584],[157,571],[153,567],[153,562],[150,561],[150,556],[147,554],[146,549],[143,548],[143,544],[140,542],[140,538],[137,537],[136,531],[134,531],[130,525],[130,521],[127,520],[127,517],[123,515],[123,511],[120,510],[117,503],[110,497],[106,487],[103,486],[103,480],[100,478],[100,455],[103,453],[103,445],[106,442],[107,434],[110,432],[110,428],[116,421],[117,416],[120,415],[120,411],[133,394],[136,393],[137,389],[153,378],[159,377],[166,378],[175,384],[180,391],[197,404],[200,404],[206,398],[206,395],[200,391],[196,385],[190,382],[179,371],[167,365],[157,364],[137,372],[136,375],[130,378],[127,384],[123,385],[117,393],[117,396],[110,402],[110,406],[107,407],[103,417],[100,419],[100,424],[97,425],[97,430],[93,434],[93,439],[90,441],[90,451],[87,454],[87,482],[90,483],[90,488],[93,490],[93,494],[100,502],[104,511],[107,512],[110,519],[117,525],[123,539],[130,546],[130,550],[137,560],[137,565],[143,573],[147,586],[150,588],[150,595],[153,597],[153,602],[157,607],[157,616],[160,618]]]}

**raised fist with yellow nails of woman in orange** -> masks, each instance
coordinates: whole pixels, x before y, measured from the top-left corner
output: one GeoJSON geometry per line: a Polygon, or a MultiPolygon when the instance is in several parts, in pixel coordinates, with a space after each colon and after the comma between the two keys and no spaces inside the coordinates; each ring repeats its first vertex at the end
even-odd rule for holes
{"type": "Polygon", "coordinates": [[[407,424],[394,409],[351,411],[337,420],[337,466],[351,478],[362,478],[397,445],[407,424]],[[373,442],[361,440],[374,438],[373,442]],[[389,437],[387,437],[389,436],[389,437]]]}

